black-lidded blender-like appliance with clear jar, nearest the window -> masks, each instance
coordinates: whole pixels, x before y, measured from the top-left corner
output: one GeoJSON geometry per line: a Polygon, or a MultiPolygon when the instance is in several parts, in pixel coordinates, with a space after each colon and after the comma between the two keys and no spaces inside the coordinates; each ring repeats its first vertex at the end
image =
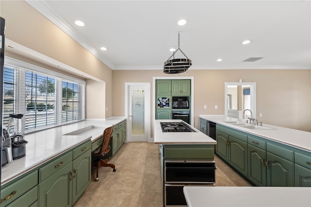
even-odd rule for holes
{"type": "Polygon", "coordinates": [[[12,157],[19,159],[26,155],[26,144],[22,127],[23,114],[10,114],[8,130],[12,142],[12,157]]]}

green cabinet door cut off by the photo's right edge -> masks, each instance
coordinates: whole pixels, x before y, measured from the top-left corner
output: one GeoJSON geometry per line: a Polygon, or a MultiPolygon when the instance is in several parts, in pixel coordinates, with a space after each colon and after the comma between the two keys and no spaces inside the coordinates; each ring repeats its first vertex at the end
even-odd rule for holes
{"type": "Polygon", "coordinates": [[[295,164],[295,186],[311,187],[311,170],[295,164]]]}

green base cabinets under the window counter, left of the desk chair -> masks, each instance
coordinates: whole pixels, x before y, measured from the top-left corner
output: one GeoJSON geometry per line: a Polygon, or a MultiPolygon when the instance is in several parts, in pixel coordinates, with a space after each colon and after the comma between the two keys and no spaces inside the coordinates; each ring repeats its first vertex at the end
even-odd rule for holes
{"type": "Polygon", "coordinates": [[[1,187],[1,207],[71,207],[91,182],[91,140],[1,187]]]}

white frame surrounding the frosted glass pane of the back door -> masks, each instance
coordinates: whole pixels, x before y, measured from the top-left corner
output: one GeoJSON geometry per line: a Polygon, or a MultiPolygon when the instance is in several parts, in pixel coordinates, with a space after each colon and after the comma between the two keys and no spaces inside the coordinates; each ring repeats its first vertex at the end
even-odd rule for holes
{"type": "MultiPolygon", "coordinates": [[[[130,128],[130,117],[129,117],[129,110],[128,110],[128,105],[129,105],[129,96],[131,95],[129,93],[129,88],[130,86],[144,86],[147,88],[147,90],[145,91],[145,134],[148,138],[148,142],[154,142],[154,140],[151,138],[151,130],[150,130],[150,126],[151,126],[151,119],[150,119],[150,105],[151,105],[151,96],[150,96],[150,92],[151,92],[151,84],[150,83],[130,83],[130,82],[125,82],[125,118],[128,121],[127,124],[127,129],[126,129],[126,133],[127,135],[130,135],[131,133],[131,128],[130,128]]],[[[127,136],[126,136],[127,137],[127,136]]],[[[126,138],[126,141],[128,142],[128,138],[126,138]]]]}

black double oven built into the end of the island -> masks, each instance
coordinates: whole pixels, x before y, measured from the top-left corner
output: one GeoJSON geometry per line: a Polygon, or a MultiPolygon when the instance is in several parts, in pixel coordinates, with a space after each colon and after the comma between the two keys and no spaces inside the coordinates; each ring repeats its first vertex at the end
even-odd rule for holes
{"type": "Polygon", "coordinates": [[[216,166],[213,160],[165,160],[164,204],[187,206],[184,186],[214,186],[216,166]]]}

